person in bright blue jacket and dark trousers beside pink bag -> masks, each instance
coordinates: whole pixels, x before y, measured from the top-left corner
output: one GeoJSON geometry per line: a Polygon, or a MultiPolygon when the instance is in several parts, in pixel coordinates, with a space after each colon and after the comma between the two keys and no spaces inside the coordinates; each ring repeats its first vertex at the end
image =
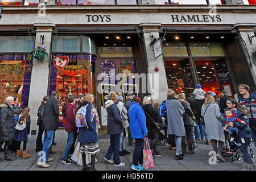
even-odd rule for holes
{"type": "Polygon", "coordinates": [[[131,138],[135,139],[135,147],[133,152],[133,163],[131,168],[136,171],[142,171],[143,167],[143,148],[144,137],[147,137],[146,115],[139,105],[141,99],[138,96],[133,98],[133,102],[128,110],[130,118],[131,138]]]}

